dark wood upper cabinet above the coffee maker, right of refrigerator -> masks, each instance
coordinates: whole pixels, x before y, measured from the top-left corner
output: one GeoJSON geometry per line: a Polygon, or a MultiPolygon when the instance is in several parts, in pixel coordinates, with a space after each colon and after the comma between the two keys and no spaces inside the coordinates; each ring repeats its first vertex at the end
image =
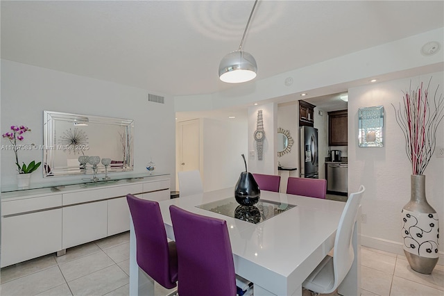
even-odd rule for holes
{"type": "Polygon", "coordinates": [[[328,145],[348,145],[348,110],[339,110],[328,113],[328,145]]]}

